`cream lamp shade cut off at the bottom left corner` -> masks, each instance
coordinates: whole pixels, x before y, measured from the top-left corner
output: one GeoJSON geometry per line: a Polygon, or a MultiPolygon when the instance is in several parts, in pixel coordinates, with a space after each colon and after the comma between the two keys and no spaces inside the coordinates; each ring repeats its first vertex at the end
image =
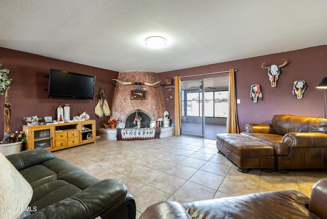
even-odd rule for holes
{"type": "Polygon", "coordinates": [[[0,153],[0,218],[17,218],[32,199],[31,185],[9,160],[0,153]]]}

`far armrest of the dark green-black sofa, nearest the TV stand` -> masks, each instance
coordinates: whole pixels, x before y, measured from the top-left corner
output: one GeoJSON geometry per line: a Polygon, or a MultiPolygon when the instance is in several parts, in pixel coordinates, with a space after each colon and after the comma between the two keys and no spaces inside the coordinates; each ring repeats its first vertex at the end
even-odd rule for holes
{"type": "Polygon", "coordinates": [[[44,161],[55,158],[55,155],[46,149],[34,149],[28,151],[22,151],[17,154],[6,156],[6,158],[12,163],[18,171],[34,166],[44,161]]]}

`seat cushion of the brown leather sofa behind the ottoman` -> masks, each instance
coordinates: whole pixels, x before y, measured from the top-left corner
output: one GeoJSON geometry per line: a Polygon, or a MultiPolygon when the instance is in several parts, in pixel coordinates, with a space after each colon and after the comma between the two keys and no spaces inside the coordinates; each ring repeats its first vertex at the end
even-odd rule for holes
{"type": "Polygon", "coordinates": [[[288,147],[288,145],[282,143],[282,135],[247,132],[241,132],[241,135],[268,144],[269,146],[274,148],[275,155],[287,156],[290,153],[290,148],[288,147]]]}

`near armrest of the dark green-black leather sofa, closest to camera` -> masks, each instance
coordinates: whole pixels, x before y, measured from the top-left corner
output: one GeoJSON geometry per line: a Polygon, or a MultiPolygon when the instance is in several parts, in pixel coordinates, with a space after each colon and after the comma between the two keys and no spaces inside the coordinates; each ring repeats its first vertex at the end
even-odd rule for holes
{"type": "MultiPolygon", "coordinates": [[[[130,205],[129,217],[136,215],[135,200],[127,192],[124,184],[112,180],[102,180],[69,198],[32,212],[28,218],[110,218],[121,207],[130,205]]],[[[33,206],[31,206],[33,209],[33,206]]]]}

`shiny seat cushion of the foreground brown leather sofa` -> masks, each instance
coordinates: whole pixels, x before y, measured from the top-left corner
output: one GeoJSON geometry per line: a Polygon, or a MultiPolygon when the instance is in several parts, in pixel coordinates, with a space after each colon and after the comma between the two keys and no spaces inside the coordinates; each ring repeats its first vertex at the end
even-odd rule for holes
{"type": "Polygon", "coordinates": [[[319,218],[299,191],[268,191],[212,200],[182,203],[192,219],[199,218],[319,218]]]}

